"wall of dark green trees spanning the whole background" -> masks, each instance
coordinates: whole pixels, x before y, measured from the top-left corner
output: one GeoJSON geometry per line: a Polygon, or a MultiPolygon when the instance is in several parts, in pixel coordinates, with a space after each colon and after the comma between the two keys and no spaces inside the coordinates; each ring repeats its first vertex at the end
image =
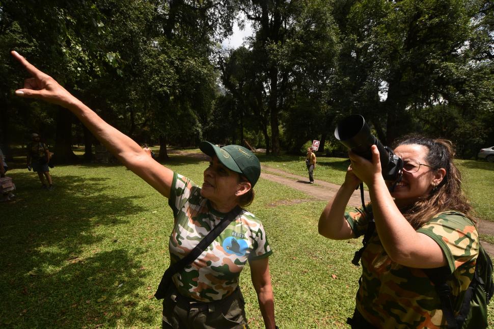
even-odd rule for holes
{"type": "MultiPolygon", "coordinates": [[[[30,132],[57,161],[97,143],[61,108],[18,99],[16,49],[139,143],[201,139],[298,152],[332,151],[359,113],[391,144],[419,132],[458,154],[494,144],[493,4],[485,0],[0,1],[0,138],[30,132]],[[237,17],[253,35],[221,48],[237,17]]],[[[240,23],[242,23],[240,21],[240,23]]]]}

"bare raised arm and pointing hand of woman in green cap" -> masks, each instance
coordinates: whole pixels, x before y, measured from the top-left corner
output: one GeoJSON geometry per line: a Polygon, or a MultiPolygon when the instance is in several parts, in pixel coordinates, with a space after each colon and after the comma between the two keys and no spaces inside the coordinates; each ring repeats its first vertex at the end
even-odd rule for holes
{"type": "MultiPolygon", "coordinates": [[[[57,81],[41,72],[16,51],[12,56],[32,75],[24,81],[24,88],[15,91],[20,97],[36,98],[61,105],[72,112],[128,169],[144,179],[163,196],[170,197],[173,172],[149,157],[127,135],[103,121],[91,108],[75,98],[57,81]]],[[[28,158],[29,161],[29,158],[28,158]]]]}

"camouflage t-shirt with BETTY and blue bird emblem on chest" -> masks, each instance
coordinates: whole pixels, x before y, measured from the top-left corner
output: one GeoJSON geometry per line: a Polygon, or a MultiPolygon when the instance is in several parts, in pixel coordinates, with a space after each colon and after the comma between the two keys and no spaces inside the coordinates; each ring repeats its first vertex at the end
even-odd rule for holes
{"type": "MultiPolygon", "coordinates": [[[[174,173],[168,204],[173,209],[175,225],[169,250],[174,264],[211,231],[226,215],[215,211],[201,196],[201,188],[174,173]]],[[[238,287],[245,263],[272,254],[261,221],[242,210],[234,221],[190,265],[173,276],[178,291],[200,301],[225,298],[238,287]]]]}

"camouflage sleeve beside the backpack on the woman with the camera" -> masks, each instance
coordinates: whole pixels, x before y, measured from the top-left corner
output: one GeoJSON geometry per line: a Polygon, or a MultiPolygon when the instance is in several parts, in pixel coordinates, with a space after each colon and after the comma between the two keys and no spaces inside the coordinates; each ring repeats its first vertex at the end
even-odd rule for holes
{"type": "Polygon", "coordinates": [[[451,272],[479,253],[479,233],[474,223],[460,212],[442,212],[417,232],[429,236],[441,247],[451,272]]]}

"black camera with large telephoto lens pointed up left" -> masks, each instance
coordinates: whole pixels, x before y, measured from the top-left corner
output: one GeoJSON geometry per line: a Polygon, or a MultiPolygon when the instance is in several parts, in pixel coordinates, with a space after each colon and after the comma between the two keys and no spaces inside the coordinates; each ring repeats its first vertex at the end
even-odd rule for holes
{"type": "Polygon", "coordinates": [[[371,134],[363,116],[353,114],[343,119],[335,129],[335,137],[352,152],[369,161],[372,161],[371,146],[376,145],[379,150],[382,177],[391,181],[401,178],[403,160],[371,134]]]}

